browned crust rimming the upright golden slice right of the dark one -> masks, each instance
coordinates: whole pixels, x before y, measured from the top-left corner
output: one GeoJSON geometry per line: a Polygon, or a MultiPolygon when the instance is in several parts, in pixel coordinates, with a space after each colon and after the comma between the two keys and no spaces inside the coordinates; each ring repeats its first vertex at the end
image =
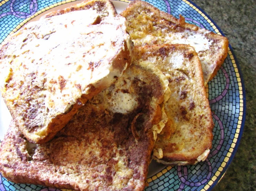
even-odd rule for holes
{"type": "MultiPolygon", "coordinates": [[[[175,51],[175,49],[182,49],[182,50],[184,50],[184,53],[186,53],[188,51],[189,47],[190,46],[187,44],[163,44],[163,45],[156,44],[156,45],[146,45],[146,46],[142,46],[142,47],[135,46],[134,47],[134,49],[135,49],[134,57],[135,57],[135,59],[139,59],[139,58],[143,59],[143,54],[145,52],[151,52],[152,56],[155,56],[157,53],[165,54],[165,51],[159,51],[159,49],[161,49],[161,48],[171,49],[172,51],[175,51]]],[[[191,52],[191,51],[189,51],[189,52],[191,52]]],[[[193,54],[194,54],[193,59],[195,59],[195,62],[197,63],[195,65],[195,67],[196,67],[196,70],[198,71],[198,77],[201,78],[201,80],[197,81],[197,83],[200,83],[202,90],[205,90],[201,62],[200,62],[199,57],[195,51],[193,51],[193,54]]],[[[208,101],[208,106],[209,106],[208,107],[208,115],[211,116],[211,108],[209,105],[209,100],[206,96],[206,91],[202,91],[202,93],[203,93],[202,97],[205,98],[205,101],[208,101]]],[[[170,97],[170,99],[171,99],[171,97],[170,97]]],[[[168,119],[168,121],[169,120],[172,121],[171,119],[168,119]]],[[[198,156],[200,156],[205,150],[212,148],[213,127],[214,127],[214,123],[213,123],[213,119],[211,117],[211,125],[209,127],[207,127],[208,132],[209,132],[209,134],[208,134],[209,142],[208,142],[208,144],[205,145],[206,147],[202,149],[203,151],[198,156]]],[[[164,129],[163,129],[163,131],[164,131],[164,129]]],[[[167,153],[163,153],[163,154],[164,154],[164,157],[161,160],[169,162],[170,165],[172,165],[171,162],[175,163],[176,161],[184,161],[184,162],[187,162],[187,164],[195,164],[195,162],[197,161],[197,157],[198,157],[198,156],[193,157],[193,158],[185,157],[183,154],[167,154],[167,153]]]]}

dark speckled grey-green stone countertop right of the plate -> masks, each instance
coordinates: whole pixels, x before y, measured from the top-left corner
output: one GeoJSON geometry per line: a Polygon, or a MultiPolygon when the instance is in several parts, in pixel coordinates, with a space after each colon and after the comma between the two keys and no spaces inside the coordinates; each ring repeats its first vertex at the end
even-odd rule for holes
{"type": "Polygon", "coordinates": [[[192,0],[228,38],[245,82],[246,121],[238,151],[213,191],[256,190],[256,1],[192,0]]]}

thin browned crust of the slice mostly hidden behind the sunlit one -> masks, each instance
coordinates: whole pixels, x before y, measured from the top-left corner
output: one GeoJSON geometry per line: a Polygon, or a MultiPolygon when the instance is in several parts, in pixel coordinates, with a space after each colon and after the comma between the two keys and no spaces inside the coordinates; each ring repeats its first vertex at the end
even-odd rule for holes
{"type": "Polygon", "coordinates": [[[109,0],[85,0],[83,2],[80,2],[78,4],[72,5],[70,7],[67,7],[65,9],[57,10],[57,11],[52,11],[50,13],[47,13],[46,15],[43,16],[43,18],[50,18],[56,15],[72,12],[72,11],[78,11],[78,10],[85,10],[91,8],[94,4],[98,4],[100,6],[105,6],[106,3],[109,3],[111,6],[111,11],[113,11],[114,14],[116,13],[116,9],[114,7],[114,4],[109,1],[109,0]],[[82,5],[82,7],[80,7],[82,5]]]}

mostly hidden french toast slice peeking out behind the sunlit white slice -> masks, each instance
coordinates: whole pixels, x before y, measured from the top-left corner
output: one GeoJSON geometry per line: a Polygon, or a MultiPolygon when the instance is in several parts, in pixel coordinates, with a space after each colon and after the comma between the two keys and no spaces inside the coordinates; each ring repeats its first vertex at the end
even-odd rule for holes
{"type": "Polygon", "coordinates": [[[109,0],[86,0],[81,3],[67,7],[65,9],[47,13],[43,17],[41,17],[41,19],[50,18],[56,15],[65,14],[72,11],[87,9],[96,10],[101,19],[104,19],[105,17],[115,17],[117,14],[113,3],[109,0]]]}

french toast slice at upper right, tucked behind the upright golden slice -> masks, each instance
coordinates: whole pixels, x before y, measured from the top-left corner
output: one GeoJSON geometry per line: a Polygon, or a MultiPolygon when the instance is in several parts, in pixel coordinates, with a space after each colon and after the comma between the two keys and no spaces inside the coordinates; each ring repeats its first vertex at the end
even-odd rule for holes
{"type": "Polygon", "coordinates": [[[132,1],[121,15],[126,18],[127,31],[135,46],[177,43],[194,47],[201,61],[205,86],[227,57],[226,37],[188,24],[182,16],[176,19],[147,2],[132,1]]]}

